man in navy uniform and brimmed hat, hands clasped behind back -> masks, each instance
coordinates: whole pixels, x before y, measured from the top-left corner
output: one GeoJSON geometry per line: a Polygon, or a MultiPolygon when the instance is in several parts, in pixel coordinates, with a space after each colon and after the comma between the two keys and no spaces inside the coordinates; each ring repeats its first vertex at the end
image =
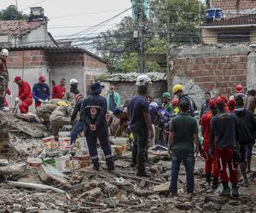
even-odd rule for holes
{"type": "Polygon", "coordinates": [[[107,100],[100,95],[103,86],[101,83],[95,82],[91,84],[90,89],[91,94],[84,99],[81,108],[81,119],[84,121],[86,127],[84,135],[86,135],[90,158],[94,164],[94,170],[99,170],[100,164],[96,149],[98,139],[106,157],[108,170],[114,170],[111,147],[108,143],[108,126],[106,121],[107,100]]]}

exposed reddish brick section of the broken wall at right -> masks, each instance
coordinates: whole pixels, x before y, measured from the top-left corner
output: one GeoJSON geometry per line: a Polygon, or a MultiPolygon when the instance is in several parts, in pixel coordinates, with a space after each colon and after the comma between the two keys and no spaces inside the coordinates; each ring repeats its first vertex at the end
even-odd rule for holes
{"type": "Polygon", "coordinates": [[[231,95],[236,84],[246,86],[247,53],[212,57],[201,55],[177,58],[173,62],[174,75],[192,79],[205,91],[217,89],[218,94],[231,95]]]}

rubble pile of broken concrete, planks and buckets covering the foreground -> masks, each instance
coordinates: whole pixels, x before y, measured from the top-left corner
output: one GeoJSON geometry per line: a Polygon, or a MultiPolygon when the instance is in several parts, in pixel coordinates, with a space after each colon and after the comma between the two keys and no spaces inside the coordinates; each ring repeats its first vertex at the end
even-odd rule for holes
{"type": "MultiPolygon", "coordinates": [[[[255,172],[248,174],[250,187],[240,187],[238,199],[224,199],[218,196],[219,188],[215,192],[208,186],[204,161],[197,157],[195,195],[186,193],[182,165],[178,196],[172,198],[168,194],[172,160],[164,147],[148,150],[154,164],[147,164],[152,176],[145,178],[136,176],[137,169],[131,167],[130,145],[124,138],[113,143],[115,170],[109,172],[101,157],[100,170],[92,169],[83,138],[76,144],[76,154],[71,153],[67,132],[61,132],[59,143],[22,131],[1,135],[0,151],[5,151],[0,158],[1,212],[256,211],[255,172]]],[[[100,147],[98,151],[102,153],[100,147]]]]}

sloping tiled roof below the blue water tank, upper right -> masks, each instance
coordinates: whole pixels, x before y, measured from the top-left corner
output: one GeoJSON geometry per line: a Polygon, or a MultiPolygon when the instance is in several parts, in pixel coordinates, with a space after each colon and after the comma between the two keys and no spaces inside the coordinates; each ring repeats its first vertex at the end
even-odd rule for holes
{"type": "Polygon", "coordinates": [[[247,26],[247,25],[256,25],[256,14],[247,14],[241,15],[235,18],[227,20],[214,20],[211,22],[205,22],[200,27],[204,26],[247,26]]]}

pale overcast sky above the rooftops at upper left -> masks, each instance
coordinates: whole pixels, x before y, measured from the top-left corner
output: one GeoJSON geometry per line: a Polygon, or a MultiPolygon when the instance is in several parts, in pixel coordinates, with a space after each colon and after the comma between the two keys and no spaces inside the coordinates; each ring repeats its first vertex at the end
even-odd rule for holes
{"type": "MultiPolygon", "coordinates": [[[[49,32],[55,39],[81,32],[131,8],[130,0],[17,0],[17,3],[18,9],[25,14],[30,13],[30,7],[41,6],[44,8],[44,15],[49,18],[49,32]]],[[[0,9],[5,9],[10,4],[15,4],[15,0],[0,0],[0,9]]],[[[96,32],[113,28],[126,15],[131,15],[131,9],[106,26],[97,29],[96,32]]],[[[92,34],[90,35],[92,36],[92,34]]]]}

